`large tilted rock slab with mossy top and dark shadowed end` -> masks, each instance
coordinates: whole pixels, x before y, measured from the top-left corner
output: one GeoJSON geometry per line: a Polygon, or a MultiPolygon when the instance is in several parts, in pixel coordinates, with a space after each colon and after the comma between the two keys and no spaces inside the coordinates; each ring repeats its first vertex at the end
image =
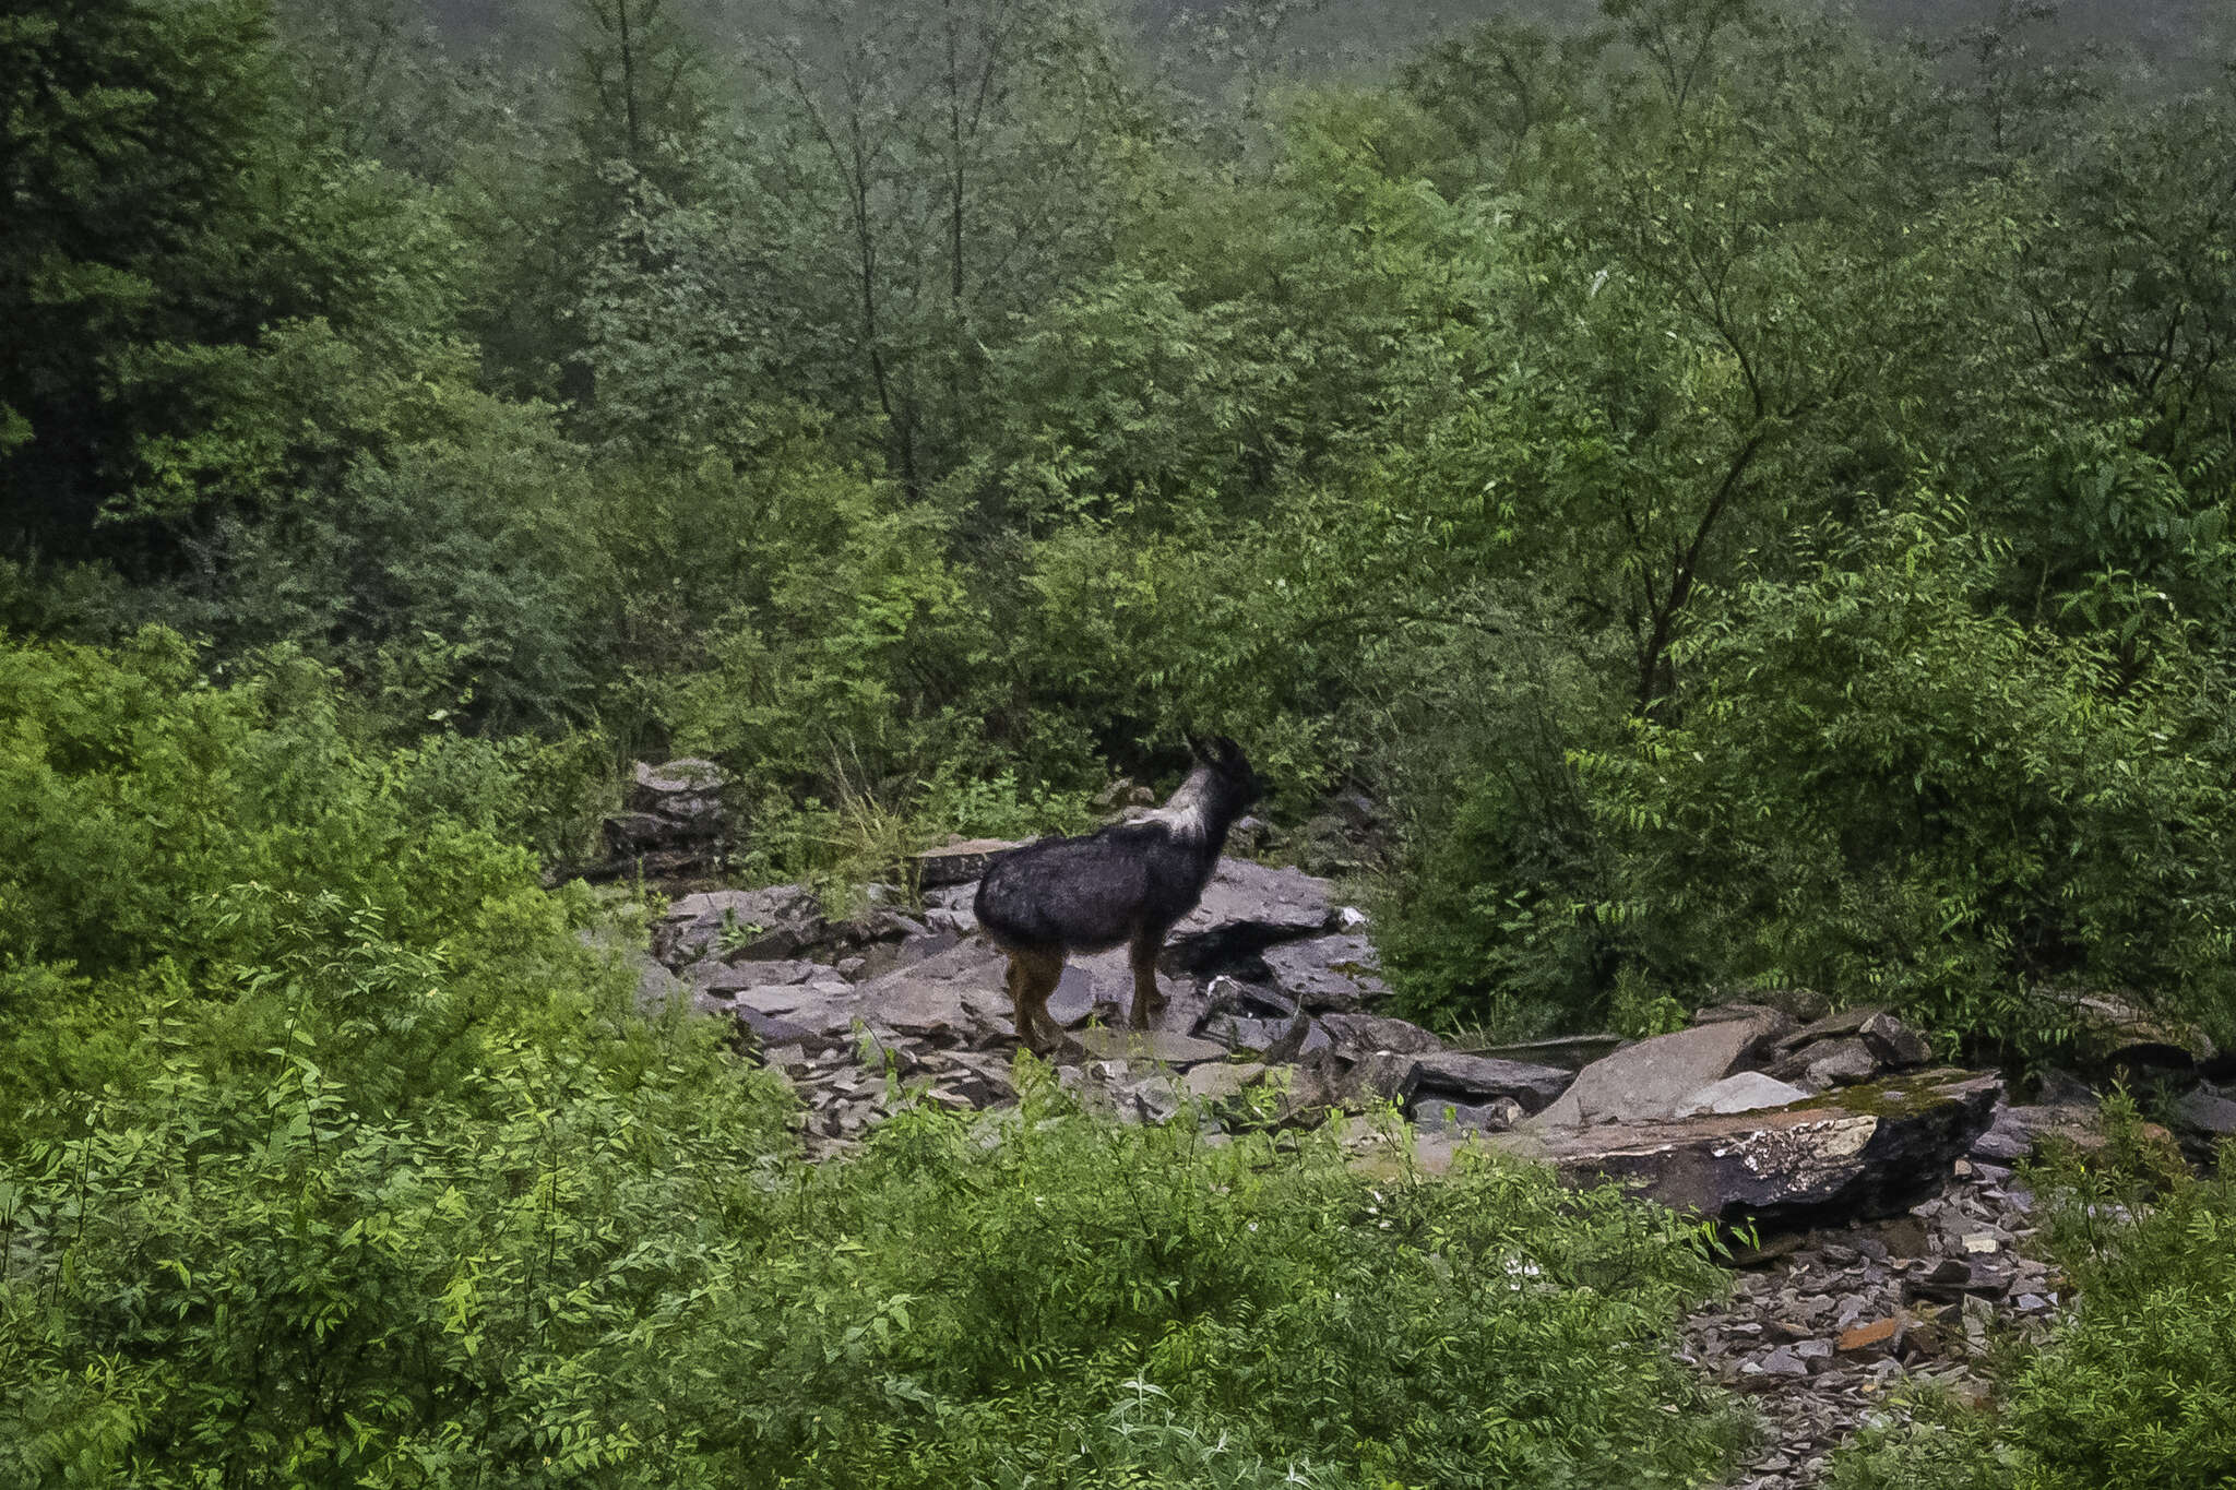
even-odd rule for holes
{"type": "Polygon", "coordinates": [[[1896,1215],[1934,1191],[1988,1128],[2001,1090],[1990,1074],[1939,1070],[1766,1112],[1536,1128],[1489,1142],[1552,1164],[1576,1186],[1632,1184],[1722,1222],[1825,1224],[1896,1215]]]}

